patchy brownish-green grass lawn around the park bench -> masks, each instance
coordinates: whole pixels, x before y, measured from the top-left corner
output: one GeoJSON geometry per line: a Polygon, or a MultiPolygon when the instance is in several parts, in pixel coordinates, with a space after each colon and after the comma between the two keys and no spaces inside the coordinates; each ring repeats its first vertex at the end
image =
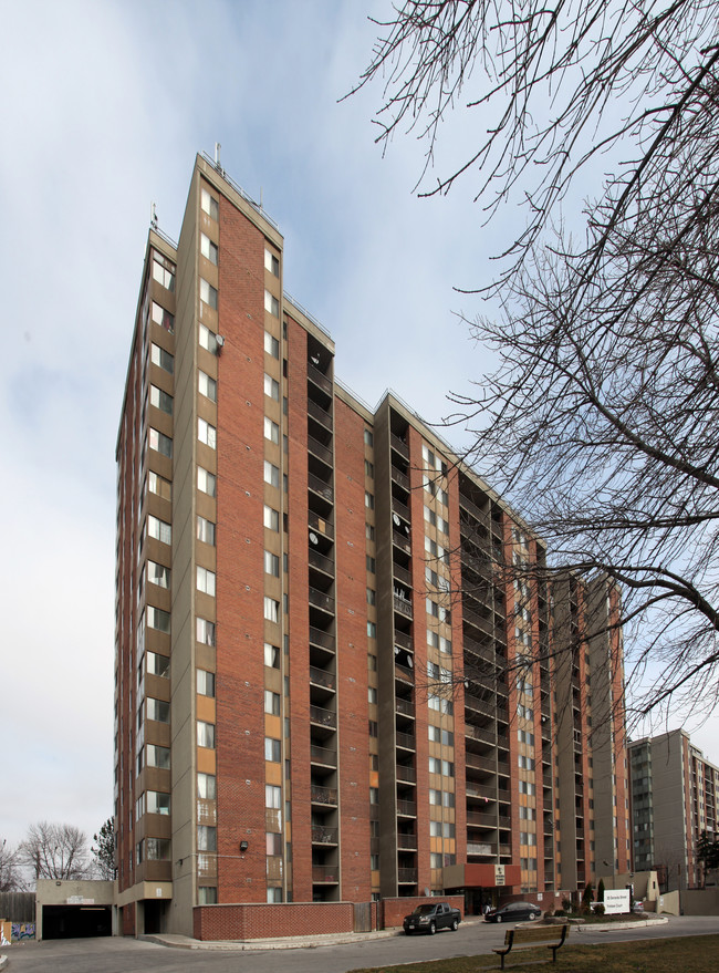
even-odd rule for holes
{"type": "MultiPolygon", "coordinates": [[[[570,938],[559,950],[556,963],[551,962],[550,950],[539,946],[511,952],[504,960],[504,970],[522,969],[523,964],[538,960],[545,962],[548,955],[552,973],[719,973],[719,935],[598,945],[579,945],[570,938]]],[[[353,973],[479,973],[492,969],[499,970],[499,956],[494,953],[381,966],[374,971],[355,970],[353,973]]]]}

